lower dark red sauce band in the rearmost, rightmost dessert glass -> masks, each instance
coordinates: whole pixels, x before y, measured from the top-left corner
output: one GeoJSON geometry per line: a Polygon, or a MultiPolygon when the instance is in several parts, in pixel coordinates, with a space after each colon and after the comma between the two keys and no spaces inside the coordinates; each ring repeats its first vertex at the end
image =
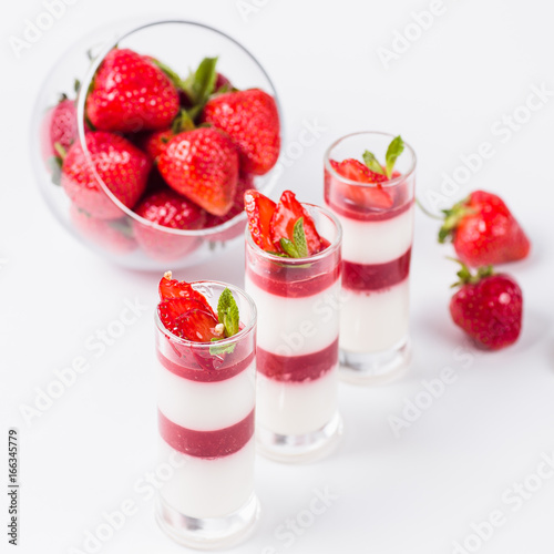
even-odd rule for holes
{"type": "Polygon", "coordinates": [[[342,260],[342,287],[349,290],[381,290],[402,283],[410,273],[411,248],[386,264],[353,264],[342,260]]]}

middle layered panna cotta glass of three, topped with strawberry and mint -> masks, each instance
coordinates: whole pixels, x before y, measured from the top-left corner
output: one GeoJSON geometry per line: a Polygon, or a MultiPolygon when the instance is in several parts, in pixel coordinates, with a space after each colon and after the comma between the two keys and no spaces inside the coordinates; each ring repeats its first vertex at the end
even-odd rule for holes
{"type": "Polygon", "coordinates": [[[337,407],[340,224],[285,191],[278,204],[245,193],[245,288],[258,309],[259,451],[279,461],[330,452],[337,407]]]}

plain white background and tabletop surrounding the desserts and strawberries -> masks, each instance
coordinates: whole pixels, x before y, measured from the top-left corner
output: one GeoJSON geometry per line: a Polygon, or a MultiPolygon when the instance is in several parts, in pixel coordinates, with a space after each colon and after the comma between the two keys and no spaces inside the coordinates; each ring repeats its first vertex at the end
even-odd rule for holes
{"type": "MultiPolygon", "coordinates": [[[[11,1],[1,19],[0,133],[0,359],[2,433],[20,430],[21,526],[18,552],[66,553],[83,548],[102,513],[135,503],[102,553],[182,552],[156,527],[153,502],[135,484],[155,469],[153,321],[160,275],[107,265],[72,237],[48,212],[30,168],[28,129],[40,83],[58,57],[83,33],[109,20],[164,16],[211,23],[255,52],[274,81],[285,111],[287,140],[302,121],[326,127],[314,146],[286,170],[281,188],[320,202],[321,160],[335,138],[357,130],[402,133],[419,156],[419,196],[440,192],[460,156],[490,142],[494,155],[449,202],[473,188],[501,194],[529,233],[529,260],[505,267],[525,300],[520,341],[496,353],[469,347],[448,312],[454,266],[448,246],[435,244],[437,222],[418,213],[412,270],[414,362],[401,382],[381,389],[341,386],[346,432],[332,458],[305,466],[257,464],[263,516],[237,551],[290,553],[451,553],[472,523],[494,510],[505,516],[473,552],[546,554],[554,551],[554,479],[531,478],[536,492],[520,510],[503,501],[514,482],[535,472],[554,451],[554,346],[552,253],[554,96],[510,138],[495,122],[525,104],[532,86],[554,91],[554,10],[544,0],[444,0],[444,13],[392,60],[394,32],[429,9],[428,0],[316,2],[79,0],[18,59],[10,37],[44,7],[11,1]],[[243,2],[243,7],[245,2],[243,2]],[[7,9],[7,11],[6,11],[7,9]],[[493,129],[496,129],[494,134],[493,129]],[[100,358],[85,340],[117,318],[124,299],[147,309],[100,358]],[[91,369],[63,397],[25,425],[22,403],[54,370],[85,356],[91,369]],[[396,437],[391,417],[423,390],[423,380],[451,367],[449,384],[396,437]],[[314,489],[338,497],[294,544],[283,540],[287,519],[307,517],[314,489]]],[[[233,75],[230,75],[233,76],[233,75]]],[[[524,111],[520,112],[524,115],[524,111]]],[[[504,124],[501,124],[503,126],[504,124]]],[[[214,278],[242,285],[240,248],[204,267],[179,271],[187,280],[214,278]]],[[[1,443],[6,444],[2,439],[1,443]]],[[[2,447],[2,452],[6,452],[2,447]]],[[[1,468],[6,468],[2,456],[1,468]]],[[[0,481],[6,482],[4,475],[0,481]]],[[[138,484],[140,485],[140,484],[138,484]]],[[[7,496],[0,502],[6,530],[7,496]]],[[[7,536],[2,531],[1,551],[7,536]]],[[[6,548],[8,552],[8,547],[6,548]]],[[[470,552],[470,551],[468,551],[470,552]]]]}

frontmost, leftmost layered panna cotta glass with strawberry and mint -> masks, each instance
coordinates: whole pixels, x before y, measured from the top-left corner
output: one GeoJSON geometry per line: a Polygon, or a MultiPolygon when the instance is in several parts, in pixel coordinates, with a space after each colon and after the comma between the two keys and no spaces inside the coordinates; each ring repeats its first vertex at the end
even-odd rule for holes
{"type": "Polygon", "coordinates": [[[233,286],[178,281],[171,271],[160,296],[160,462],[174,471],[160,490],[157,521],[187,546],[228,547],[258,516],[256,307],[233,286]]]}

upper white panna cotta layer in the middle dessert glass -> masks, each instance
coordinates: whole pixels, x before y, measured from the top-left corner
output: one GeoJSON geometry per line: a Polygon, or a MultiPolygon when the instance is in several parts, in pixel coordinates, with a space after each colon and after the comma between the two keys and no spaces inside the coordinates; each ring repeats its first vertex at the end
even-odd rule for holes
{"type": "Polygon", "coordinates": [[[312,296],[286,298],[245,277],[258,309],[257,346],[278,356],[304,356],[329,347],[339,331],[340,279],[312,296]]]}

